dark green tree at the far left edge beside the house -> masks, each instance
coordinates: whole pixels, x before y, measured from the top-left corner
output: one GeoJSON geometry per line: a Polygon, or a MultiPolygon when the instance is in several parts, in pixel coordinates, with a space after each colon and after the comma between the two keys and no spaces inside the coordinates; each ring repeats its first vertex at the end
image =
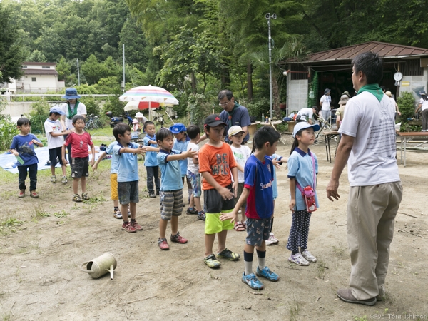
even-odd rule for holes
{"type": "Polygon", "coordinates": [[[0,83],[10,82],[11,78],[22,75],[21,63],[25,51],[16,42],[17,27],[12,24],[9,9],[0,2],[0,83]]]}

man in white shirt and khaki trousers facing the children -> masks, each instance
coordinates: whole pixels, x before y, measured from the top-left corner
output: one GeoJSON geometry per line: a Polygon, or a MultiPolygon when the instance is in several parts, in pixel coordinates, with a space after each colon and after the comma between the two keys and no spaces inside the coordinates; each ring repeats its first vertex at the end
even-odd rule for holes
{"type": "Polygon", "coordinates": [[[382,92],[382,59],[366,52],[352,60],[357,96],[347,102],[337,156],[327,185],[336,200],[339,178],[347,163],[350,194],[347,241],[351,256],[350,288],[337,290],[341,300],[374,305],[384,300],[389,245],[402,200],[395,144],[395,106],[382,92]]]}

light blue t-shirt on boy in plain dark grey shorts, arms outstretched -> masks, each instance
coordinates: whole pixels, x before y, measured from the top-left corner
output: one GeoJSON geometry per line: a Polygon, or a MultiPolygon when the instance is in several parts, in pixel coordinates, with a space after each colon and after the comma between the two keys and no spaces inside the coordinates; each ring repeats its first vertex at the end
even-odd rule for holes
{"type": "MultiPolygon", "coordinates": [[[[129,143],[128,148],[138,148],[137,143],[129,143]]],[[[113,157],[118,158],[118,183],[133,182],[138,180],[138,160],[137,154],[134,153],[120,153],[121,146],[119,143],[113,146],[113,157]]]]}

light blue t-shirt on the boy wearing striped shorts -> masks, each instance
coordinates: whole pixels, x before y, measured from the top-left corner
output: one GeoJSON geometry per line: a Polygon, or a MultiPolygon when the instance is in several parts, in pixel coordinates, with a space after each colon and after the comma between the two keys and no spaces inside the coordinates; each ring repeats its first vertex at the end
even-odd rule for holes
{"type": "MultiPolygon", "coordinates": [[[[183,182],[181,180],[181,171],[178,161],[168,161],[169,155],[179,154],[180,151],[165,151],[161,149],[158,153],[158,164],[161,168],[161,190],[181,190],[183,182]]],[[[185,159],[187,163],[187,159],[185,159]]]]}

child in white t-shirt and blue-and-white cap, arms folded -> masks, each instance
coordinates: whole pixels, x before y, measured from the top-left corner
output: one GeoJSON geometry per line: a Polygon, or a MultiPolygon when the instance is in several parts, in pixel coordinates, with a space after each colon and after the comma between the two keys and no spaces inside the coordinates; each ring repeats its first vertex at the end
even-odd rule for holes
{"type": "Polygon", "coordinates": [[[61,183],[67,183],[66,164],[62,161],[61,148],[64,143],[64,135],[68,135],[70,131],[61,126],[58,119],[65,115],[61,108],[52,107],[49,111],[49,118],[44,123],[46,138],[48,138],[49,162],[51,163],[51,183],[56,183],[55,166],[56,163],[61,164],[63,178],[61,183]]]}

